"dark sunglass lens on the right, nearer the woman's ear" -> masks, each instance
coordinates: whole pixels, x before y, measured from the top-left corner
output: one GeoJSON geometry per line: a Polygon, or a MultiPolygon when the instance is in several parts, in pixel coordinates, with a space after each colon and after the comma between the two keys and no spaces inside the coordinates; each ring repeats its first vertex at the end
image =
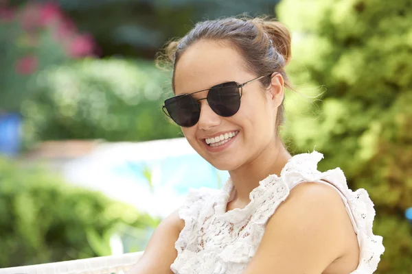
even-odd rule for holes
{"type": "Polygon", "coordinates": [[[240,108],[240,92],[236,82],[214,86],[207,94],[207,102],[216,114],[229,117],[240,108]]]}

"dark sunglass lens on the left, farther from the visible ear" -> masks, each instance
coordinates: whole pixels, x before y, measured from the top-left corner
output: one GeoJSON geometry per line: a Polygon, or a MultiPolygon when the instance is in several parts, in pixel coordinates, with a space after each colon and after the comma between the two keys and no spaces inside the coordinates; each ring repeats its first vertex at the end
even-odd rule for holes
{"type": "Polygon", "coordinates": [[[198,102],[190,95],[181,95],[167,99],[165,107],[173,121],[181,127],[196,125],[201,114],[198,102]]]}

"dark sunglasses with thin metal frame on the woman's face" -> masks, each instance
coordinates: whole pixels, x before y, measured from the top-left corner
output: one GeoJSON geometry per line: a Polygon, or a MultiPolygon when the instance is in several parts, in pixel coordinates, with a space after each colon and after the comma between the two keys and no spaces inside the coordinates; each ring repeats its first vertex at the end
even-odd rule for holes
{"type": "MultiPolygon", "coordinates": [[[[272,73],[270,75],[272,75],[272,73]]],[[[177,95],[165,100],[162,110],[174,121],[174,123],[181,127],[192,127],[198,123],[199,117],[201,116],[201,104],[199,101],[206,99],[209,107],[216,114],[222,117],[230,117],[236,114],[240,108],[242,88],[246,84],[270,75],[256,77],[243,84],[227,82],[190,94],[177,95]],[[209,90],[209,92],[207,93],[206,98],[194,99],[191,96],[195,93],[207,90],[209,90]]]]}

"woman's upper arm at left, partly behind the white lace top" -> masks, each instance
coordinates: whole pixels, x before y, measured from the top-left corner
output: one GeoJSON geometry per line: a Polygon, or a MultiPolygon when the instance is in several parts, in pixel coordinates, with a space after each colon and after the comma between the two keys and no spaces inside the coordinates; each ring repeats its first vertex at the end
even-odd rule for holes
{"type": "Polygon", "coordinates": [[[172,274],[170,265],[177,256],[174,243],[179,238],[184,225],[184,221],[179,218],[179,210],[161,221],[150,238],[143,256],[128,271],[128,274],[172,274]]]}

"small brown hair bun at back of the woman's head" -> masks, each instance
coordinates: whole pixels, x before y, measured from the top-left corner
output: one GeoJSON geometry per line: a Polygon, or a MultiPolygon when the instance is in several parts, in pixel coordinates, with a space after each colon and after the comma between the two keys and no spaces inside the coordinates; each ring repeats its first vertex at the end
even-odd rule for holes
{"type": "Polygon", "coordinates": [[[278,21],[263,21],[264,32],[269,36],[273,47],[282,54],[286,64],[292,55],[291,38],[288,28],[278,21]]]}

